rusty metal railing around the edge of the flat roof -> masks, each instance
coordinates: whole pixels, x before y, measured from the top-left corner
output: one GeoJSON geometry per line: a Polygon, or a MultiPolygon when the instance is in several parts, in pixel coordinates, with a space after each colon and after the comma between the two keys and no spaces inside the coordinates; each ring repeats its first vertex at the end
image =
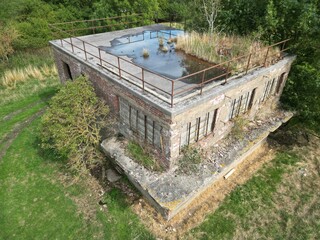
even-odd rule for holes
{"type": "MultiPolygon", "coordinates": [[[[117,17],[117,19],[119,18],[120,17],[117,17]]],[[[106,19],[95,19],[76,22],[83,23],[101,20],[106,19]]],[[[69,34],[69,37],[59,39],[61,47],[69,47],[72,53],[80,51],[77,53],[83,54],[86,61],[95,59],[97,61],[96,63],[100,67],[108,72],[116,74],[120,78],[120,80],[124,80],[129,84],[135,85],[136,87],[142,89],[143,92],[149,93],[159,98],[160,100],[165,101],[171,107],[173,107],[174,104],[178,102],[179,96],[185,96],[186,94],[194,93],[196,91],[198,91],[198,94],[201,95],[204,91],[204,87],[209,85],[209,83],[217,82],[218,85],[226,84],[228,82],[228,78],[232,76],[232,73],[236,72],[237,70],[241,70],[240,72],[243,75],[246,75],[250,70],[260,67],[266,67],[269,64],[275,63],[276,61],[283,58],[284,51],[288,50],[288,48],[285,48],[285,44],[290,40],[283,40],[281,42],[267,46],[261,49],[259,52],[235,57],[231,60],[213,65],[209,68],[180,77],[178,79],[170,79],[151,70],[147,70],[131,61],[128,61],[127,59],[124,59],[123,57],[107,53],[100,47],[84,41],[79,37],[70,36],[70,32],[74,33],[78,29],[70,29],[68,31],[65,31],[57,27],[62,24],[71,24],[72,26],[74,26],[74,22],[50,25],[50,28],[56,30],[57,32],[67,35],[69,34]],[[279,50],[272,52],[271,49],[274,49],[276,47],[278,47],[279,50]],[[254,62],[253,57],[256,54],[263,54],[263,61],[260,61],[258,63],[254,62]],[[246,63],[245,66],[242,66],[241,68],[235,68],[234,66],[237,66],[240,60],[242,61],[242,63],[246,63]],[[139,69],[138,72],[140,74],[133,74],[133,72],[126,70],[128,69],[128,66],[130,68],[139,69]],[[146,77],[146,75],[148,75],[149,77],[146,77]],[[161,81],[163,81],[163,84],[157,86],[156,84],[154,84],[154,81],[152,81],[152,79],[154,78],[161,79],[161,81]]],[[[90,29],[93,29],[94,31],[94,28],[90,29]]]]}

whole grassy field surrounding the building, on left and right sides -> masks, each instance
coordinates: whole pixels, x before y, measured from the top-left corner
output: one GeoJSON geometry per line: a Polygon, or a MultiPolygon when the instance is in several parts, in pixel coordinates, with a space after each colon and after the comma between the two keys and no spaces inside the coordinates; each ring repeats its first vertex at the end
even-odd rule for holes
{"type": "MultiPolygon", "coordinates": [[[[57,78],[0,88],[0,239],[160,237],[133,212],[137,199],[117,186],[102,189],[94,179],[74,182],[64,162],[40,150],[40,116],[58,89],[57,78]]],[[[274,160],[179,238],[320,239],[320,142],[309,140],[280,147],[274,160]]]]}

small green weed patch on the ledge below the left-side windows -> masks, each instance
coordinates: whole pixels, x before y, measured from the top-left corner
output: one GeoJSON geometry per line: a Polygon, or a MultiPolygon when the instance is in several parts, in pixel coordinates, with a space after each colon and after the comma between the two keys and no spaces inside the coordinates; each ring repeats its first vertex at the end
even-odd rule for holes
{"type": "Polygon", "coordinates": [[[145,168],[154,171],[162,171],[163,168],[155,161],[155,159],[146,152],[138,143],[130,141],[127,145],[129,155],[142,164],[145,168]]]}

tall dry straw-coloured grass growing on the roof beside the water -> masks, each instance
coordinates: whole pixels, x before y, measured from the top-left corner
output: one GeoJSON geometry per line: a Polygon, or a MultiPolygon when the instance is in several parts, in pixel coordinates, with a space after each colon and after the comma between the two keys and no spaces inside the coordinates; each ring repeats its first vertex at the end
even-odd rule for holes
{"type": "MultiPolygon", "coordinates": [[[[266,47],[262,42],[249,37],[197,32],[178,36],[176,44],[176,49],[211,63],[218,64],[238,58],[230,65],[234,72],[246,69],[250,53],[250,68],[263,65],[267,53],[266,47]]],[[[280,57],[279,48],[270,48],[268,55],[266,64],[272,64],[280,57]]]]}

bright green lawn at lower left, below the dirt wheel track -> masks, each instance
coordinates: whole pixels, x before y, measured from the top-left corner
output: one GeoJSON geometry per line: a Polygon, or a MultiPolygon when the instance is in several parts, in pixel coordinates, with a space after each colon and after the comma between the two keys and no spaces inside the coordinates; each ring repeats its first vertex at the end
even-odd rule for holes
{"type": "Polygon", "coordinates": [[[56,180],[61,166],[39,154],[38,126],[25,128],[0,163],[0,239],[152,239],[117,190],[104,197],[108,214],[84,221],[70,196],[88,192],[56,180]]]}

